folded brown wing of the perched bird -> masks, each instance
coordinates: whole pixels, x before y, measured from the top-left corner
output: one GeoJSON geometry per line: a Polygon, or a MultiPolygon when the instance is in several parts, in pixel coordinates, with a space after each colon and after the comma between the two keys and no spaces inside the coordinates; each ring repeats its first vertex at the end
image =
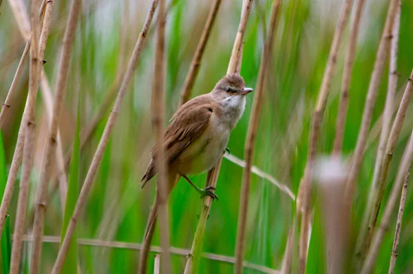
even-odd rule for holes
{"type": "MultiPolygon", "coordinates": [[[[176,111],[164,135],[166,163],[170,163],[201,135],[212,113],[213,106],[206,96],[198,96],[176,111]]],[[[155,155],[156,147],[152,150],[152,157],[155,155]]]]}

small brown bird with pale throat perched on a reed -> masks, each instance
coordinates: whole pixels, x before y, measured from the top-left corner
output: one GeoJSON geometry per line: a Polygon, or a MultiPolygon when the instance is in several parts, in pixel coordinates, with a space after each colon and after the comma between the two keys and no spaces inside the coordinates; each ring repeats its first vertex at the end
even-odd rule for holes
{"type": "MultiPolygon", "coordinates": [[[[246,95],[253,89],[245,87],[239,73],[221,78],[210,93],[199,95],[176,111],[163,136],[167,168],[167,194],[182,176],[201,197],[209,195],[218,200],[213,187],[201,189],[188,175],[207,172],[224,154],[231,131],[245,110],[246,95]]],[[[142,177],[142,187],[155,176],[156,153],[153,146],[151,160],[142,177]]],[[[147,231],[156,218],[157,199],[154,203],[147,231]]]]}

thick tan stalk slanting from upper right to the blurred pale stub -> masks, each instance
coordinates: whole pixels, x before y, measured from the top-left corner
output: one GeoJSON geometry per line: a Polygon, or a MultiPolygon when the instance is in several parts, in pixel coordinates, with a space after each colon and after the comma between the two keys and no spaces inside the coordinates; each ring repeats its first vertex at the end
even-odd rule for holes
{"type": "Polygon", "coordinates": [[[398,1],[399,0],[390,1],[388,15],[385,21],[385,27],[383,29],[383,34],[381,36],[379,49],[377,49],[377,56],[374,62],[372,78],[370,79],[370,84],[368,87],[368,93],[366,97],[366,104],[364,106],[363,118],[361,120],[361,127],[359,130],[359,136],[357,138],[357,145],[354,151],[354,155],[352,157],[352,164],[348,172],[346,191],[344,193],[344,203],[346,204],[346,210],[350,210],[352,197],[354,195],[354,191],[356,188],[357,177],[359,176],[361,162],[363,161],[364,148],[366,146],[366,141],[370,130],[370,123],[372,120],[374,103],[376,102],[377,91],[379,89],[379,84],[381,76],[383,74],[385,61],[387,59],[390,49],[390,42],[392,39],[392,28],[394,24],[394,19],[396,18],[398,1]]]}

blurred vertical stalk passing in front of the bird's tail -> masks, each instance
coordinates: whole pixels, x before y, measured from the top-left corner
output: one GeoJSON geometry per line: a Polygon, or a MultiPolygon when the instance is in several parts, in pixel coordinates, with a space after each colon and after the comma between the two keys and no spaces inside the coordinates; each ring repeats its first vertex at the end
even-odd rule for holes
{"type": "Polygon", "coordinates": [[[163,145],[165,120],[165,0],[159,1],[159,23],[156,37],[155,67],[153,69],[151,116],[155,131],[156,168],[158,171],[156,200],[158,201],[160,246],[162,247],[160,267],[162,273],[171,273],[171,254],[169,253],[168,182],[163,145]]]}

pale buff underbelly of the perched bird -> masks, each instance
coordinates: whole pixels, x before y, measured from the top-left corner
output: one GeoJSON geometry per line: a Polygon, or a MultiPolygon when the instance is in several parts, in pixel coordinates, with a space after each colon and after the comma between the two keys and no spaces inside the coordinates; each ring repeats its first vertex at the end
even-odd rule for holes
{"type": "Polygon", "coordinates": [[[202,136],[189,145],[176,159],[175,164],[178,172],[180,174],[200,174],[211,170],[224,153],[229,133],[229,129],[215,128],[209,136],[202,136]]]}

